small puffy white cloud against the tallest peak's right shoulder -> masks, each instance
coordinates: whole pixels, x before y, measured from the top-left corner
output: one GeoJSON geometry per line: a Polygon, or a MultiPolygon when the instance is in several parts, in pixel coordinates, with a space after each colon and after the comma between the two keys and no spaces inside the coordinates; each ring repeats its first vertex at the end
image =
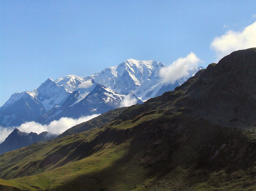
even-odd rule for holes
{"type": "Polygon", "coordinates": [[[198,65],[200,59],[195,53],[190,52],[185,58],[179,58],[170,66],[163,67],[159,71],[159,76],[168,83],[173,84],[176,80],[188,76],[188,70],[198,65]]]}

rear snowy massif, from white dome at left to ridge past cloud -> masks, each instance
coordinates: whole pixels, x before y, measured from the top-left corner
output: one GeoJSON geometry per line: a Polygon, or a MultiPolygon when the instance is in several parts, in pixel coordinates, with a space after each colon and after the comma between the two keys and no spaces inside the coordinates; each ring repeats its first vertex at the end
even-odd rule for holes
{"type": "Polygon", "coordinates": [[[64,86],[68,90],[74,90],[86,80],[93,80],[107,88],[115,90],[119,94],[132,92],[142,101],[161,95],[163,92],[173,90],[183,84],[189,77],[195,75],[203,67],[194,67],[188,70],[188,75],[177,80],[174,84],[166,84],[158,75],[159,70],[165,67],[161,62],[154,60],[128,59],[123,63],[105,68],[101,72],[90,76],[78,77],[68,75],[55,81],[56,84],[64,86]],[[162,92],[162,93],[161,93],[162,92]],[[160,94],[161,93],[161,94],[160,94]]]}

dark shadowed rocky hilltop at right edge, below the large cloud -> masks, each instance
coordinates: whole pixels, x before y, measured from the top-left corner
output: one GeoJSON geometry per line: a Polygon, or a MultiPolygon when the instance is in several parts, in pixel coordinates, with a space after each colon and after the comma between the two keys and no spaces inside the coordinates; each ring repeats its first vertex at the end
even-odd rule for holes
{"type": "Polygon", "coordinates": [[[256,123],[256,48],[232,52],[174,91],[185,91],[176,107],[191,108],[195,115],[225,126],[252,127],[256,123]]]}

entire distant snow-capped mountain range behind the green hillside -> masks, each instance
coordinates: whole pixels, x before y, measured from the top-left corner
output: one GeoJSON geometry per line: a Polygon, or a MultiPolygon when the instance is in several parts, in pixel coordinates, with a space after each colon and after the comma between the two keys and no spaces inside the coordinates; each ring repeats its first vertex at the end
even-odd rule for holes
{"type": "Polygon", "coordinates": [[[47,79],[32,91],[14,93],[0,107],[0,125],[18,126],[26,121],[49,123],[61,117],[102,114],[125,106],[127,99],[131,104],[142,103],[173,90],[202,69],[195,67],[188,71],[188,76],[168,85],[158,75],[163,67],[164,64],[154,60],[128,59],[90,76],[47,79]]]}

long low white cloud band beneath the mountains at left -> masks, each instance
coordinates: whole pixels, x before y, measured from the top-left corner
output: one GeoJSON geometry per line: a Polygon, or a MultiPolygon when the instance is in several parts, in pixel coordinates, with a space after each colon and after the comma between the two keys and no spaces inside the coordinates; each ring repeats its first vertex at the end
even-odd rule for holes
{"type": "Polygon", "coordinates": [[[83,123],[85,121],[88,121],[90,119],[93,119],[100,114],[94,114],[91,116],[85,116],[85,117],[80,117],[79,119],[73,119],[73,118],[68,118],[68,117],[62,117],[59,120],[54,120],[48,125],[42,125],[40,123],[30,121],[21,124],[20,126],[17,127],[0,127],[0,143],[4,141],[6,137],[15,129],[19,129],[21,132],[34,132],[34,133],[42,133],[44,131],[47,131],[52,134],[61,134],[65,132],[67,129],[70,127],[73,127],[74,125],[83,123]]]}

